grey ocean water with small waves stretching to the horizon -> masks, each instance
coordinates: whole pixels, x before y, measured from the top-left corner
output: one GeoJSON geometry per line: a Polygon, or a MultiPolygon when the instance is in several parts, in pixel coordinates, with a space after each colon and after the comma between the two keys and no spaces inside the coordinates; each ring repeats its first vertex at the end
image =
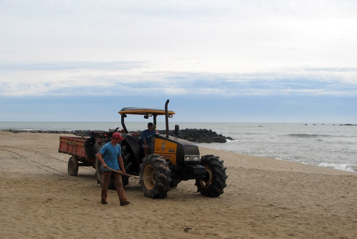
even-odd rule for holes
{"type": "MultiPolygon", "coordinates": [[[[127,122],[128,130],[143,130],[146,122],[127,122]]],[[[197,144],[248,155],[264,156],[357,172],[357,126],[304,123],[208,123],[170,122],[181,129],[206,128],[235,140],[224,144],[197,144]]],[[[1,122],[0,129],[104,130],[121,127],[120,122],[1,122]]],[[[165,129],[158,122],[158,129],[165,129]]]]}

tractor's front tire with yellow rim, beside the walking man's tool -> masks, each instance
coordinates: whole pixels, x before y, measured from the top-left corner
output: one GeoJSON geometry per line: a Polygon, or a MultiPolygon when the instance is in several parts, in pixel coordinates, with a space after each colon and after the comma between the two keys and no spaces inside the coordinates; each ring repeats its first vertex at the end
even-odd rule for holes
{"type": "Polygon", "coordinates": [[[168,162],[163,156],[149,154],[140,165],[141,189],[148,198],[165,198],[170,190],[170,173],[168,162]]]}

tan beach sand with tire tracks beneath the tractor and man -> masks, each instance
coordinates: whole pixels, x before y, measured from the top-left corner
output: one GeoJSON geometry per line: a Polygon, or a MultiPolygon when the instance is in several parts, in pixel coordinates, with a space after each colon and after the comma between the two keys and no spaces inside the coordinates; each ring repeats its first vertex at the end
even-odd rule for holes
{"type": "Polygon", "coordinates": [[[59,136],[0,131],[1,238],[357,238],[356,173],[200,148],[227,167],[220,197],[189,180],[154,200],[131,179],[130,205],[112,190],[102,205],[93,168],[68,175],[59,136]]]}

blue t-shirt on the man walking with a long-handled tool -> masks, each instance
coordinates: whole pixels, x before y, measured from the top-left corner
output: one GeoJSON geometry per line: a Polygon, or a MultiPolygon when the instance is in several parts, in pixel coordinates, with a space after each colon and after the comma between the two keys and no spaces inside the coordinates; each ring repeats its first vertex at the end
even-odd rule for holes
{"type": "MultiPolygon", "coordinates": [[[[103,154],[103,160],[109,168],[119,170],[118,156],[121,156],[121,147],[119,144],[113,146],[111,143],[107,143],[101,147],[99,153],[103,154]]],[[[100,166],[100,169],[111,171],[110,169],[103,168],[103,164],[100,166]]]]}

